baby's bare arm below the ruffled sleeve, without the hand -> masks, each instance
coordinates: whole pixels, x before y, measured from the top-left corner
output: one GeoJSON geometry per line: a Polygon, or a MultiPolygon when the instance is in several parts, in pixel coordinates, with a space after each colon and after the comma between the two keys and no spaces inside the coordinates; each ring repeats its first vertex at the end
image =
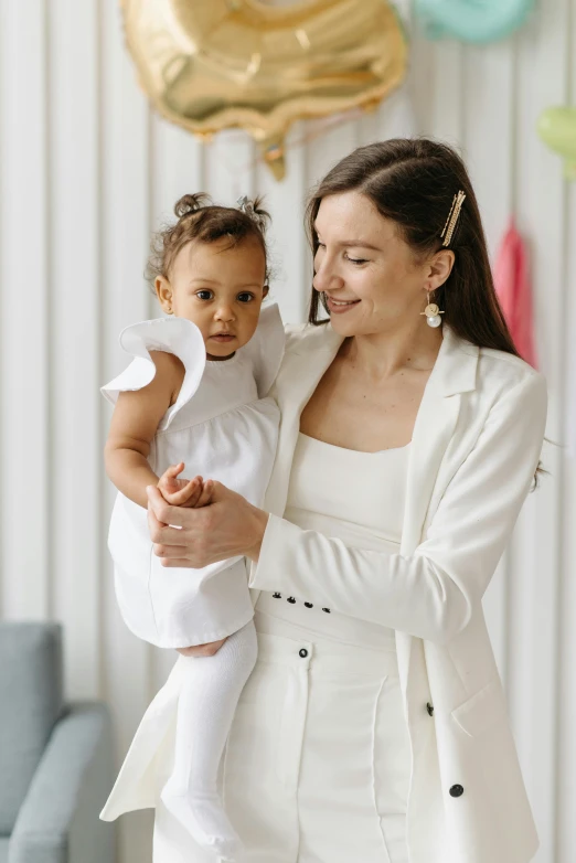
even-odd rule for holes
{"type": "Polygon", "coordinates": [[[150,444],[184,380],[184,366],[178,356],[163,351],[151,351],[150,355],[154,379],[141,390],[119,394],[104,450],[108,477],[122,494],[145,509],[146,487],[158,482],[147,460],[150,444]]]}

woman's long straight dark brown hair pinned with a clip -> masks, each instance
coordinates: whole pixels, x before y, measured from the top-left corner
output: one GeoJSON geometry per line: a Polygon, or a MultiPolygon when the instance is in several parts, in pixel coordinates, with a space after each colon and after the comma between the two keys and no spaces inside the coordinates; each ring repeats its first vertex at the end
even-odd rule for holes
{"type": "MultiPolygon", "coordinates": [[[[454,196],[466,201],[449,247],[455,264],[446,283],[434,294],[442,320],[454,332],[479,348],[494,348],[519,356],[494,290],[482,220],[468,171],[458,153],[428,138],[392,138],[359,147],[320,181],[306,213],[308,238],[316,256],[316,217],[323,198],[343,192],[366,195],[378,213],[391,219],[416,255],[441,247],[440,234],[454,196]]],[[[319,318],[320,295],[312,288],[309,322],[319,318]]],[[[537,473],[546,472],[538,465],[537,473]]]]}

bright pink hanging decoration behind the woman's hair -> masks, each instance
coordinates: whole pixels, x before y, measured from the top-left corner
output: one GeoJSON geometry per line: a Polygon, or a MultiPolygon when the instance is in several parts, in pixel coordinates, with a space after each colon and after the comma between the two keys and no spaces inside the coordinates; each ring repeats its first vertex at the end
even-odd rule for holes
{"type": "Polygon", "coordinates": [[[516,350],[536,369],[529,255],[513,220],[498,252],[494,285],[516,350]]]}

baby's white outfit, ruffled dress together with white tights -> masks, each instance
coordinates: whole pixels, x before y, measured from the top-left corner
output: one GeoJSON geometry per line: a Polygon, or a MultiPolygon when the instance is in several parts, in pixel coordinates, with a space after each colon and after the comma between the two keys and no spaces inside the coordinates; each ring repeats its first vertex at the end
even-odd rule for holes
{"type": "MultiPolygon", "coordinates": [[[[170,465],[183,461],[184,477],[220,480],[262,505],[280,420],[278,406],[267,394],[284,341],[277,306],[260,312],[250,341],[228,360],[207,361],[200,330],[184,318],[136,323],[120,334],[121,347],[134,360],[103,393],[115,402],[120,392],[149,384],[156,374],[150,351],[179,356],[184,379],[151,444],[150,467],[161,476],[170,465]]],[[[108,545],[120,610],[139,638],[163,648],[184,648],[227,637],[214,656],[180,657],[173,763],[160,798],[195,842],[218,860],[236,861],[242,842],[222,807],[216,780],[237,701],[257,656],[245,561],[234,557],[200,569],[162,567],[153,554],[147,511],[121,493],[108,545]]],[[[162,691],[158,697],[163,697],[162,691]]],[[[153,704],[143,724],[151,710],[153,704]]],[[[110,817],[107,808],[104,819],[110,817]]]]}

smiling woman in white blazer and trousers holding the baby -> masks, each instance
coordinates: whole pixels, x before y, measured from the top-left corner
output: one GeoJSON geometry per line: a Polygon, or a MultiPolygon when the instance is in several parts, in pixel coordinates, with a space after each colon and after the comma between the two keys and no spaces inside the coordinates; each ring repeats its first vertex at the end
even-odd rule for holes
{"type": "MultiPolygon", "coordinates": [[[[544,380],[516,355],[450,148],[360,148],[308,215],[316,326],[289,334],[273,391],[265,511],[217,483],[203,510],[148,489],[163,566],[253,561],[259,660],[223,760],[228,814],[246,863],[526,863],[481,600],[538,466],[544,380]]],[[[178,674],[105,817],[154,806],[178,674]]],[[[160,807],[154,861],[184,860],[207,863],[160,807]]]]}

